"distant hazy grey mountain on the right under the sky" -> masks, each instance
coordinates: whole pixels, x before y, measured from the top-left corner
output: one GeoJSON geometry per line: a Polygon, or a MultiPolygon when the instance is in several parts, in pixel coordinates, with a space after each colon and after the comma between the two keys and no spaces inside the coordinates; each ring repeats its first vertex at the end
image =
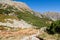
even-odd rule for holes
{"type": "Polygon", "coordinates": [[[44,15],[53,21],[60,20],[60,13],[58,12],[45,12],[44,15]]]}

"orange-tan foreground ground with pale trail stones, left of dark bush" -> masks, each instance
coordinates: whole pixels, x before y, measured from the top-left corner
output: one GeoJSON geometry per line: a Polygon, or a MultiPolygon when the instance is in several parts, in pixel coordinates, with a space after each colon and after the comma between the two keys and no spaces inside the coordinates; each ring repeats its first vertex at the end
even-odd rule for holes
{"type": "Polygon", "coordinates": [[[0,31],[0,40],[39,40],[36,29],[23,29],[16,32],[0,31]]]}

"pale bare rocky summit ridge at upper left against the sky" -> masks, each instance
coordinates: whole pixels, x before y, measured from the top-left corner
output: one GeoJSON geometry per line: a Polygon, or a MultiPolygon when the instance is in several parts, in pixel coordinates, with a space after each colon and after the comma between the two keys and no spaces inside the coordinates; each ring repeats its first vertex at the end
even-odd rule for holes
{"type": "Polygon", "coordinates": [[[10,6],[14,6],[16,7],[17,9],[19,9],[20,11],[32,11],[25,3],[23,2],[16,2],[16,1],[11,1],[11,0],[2,0],[0,1],[0,3],[4,3],[4,4],[8,4],[10,6]]]}

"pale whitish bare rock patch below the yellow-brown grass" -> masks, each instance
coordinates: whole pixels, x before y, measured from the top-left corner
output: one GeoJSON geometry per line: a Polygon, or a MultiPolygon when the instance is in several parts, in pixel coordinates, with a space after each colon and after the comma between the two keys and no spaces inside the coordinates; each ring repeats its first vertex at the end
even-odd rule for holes
{"type": "Polygon", "coordinates": [[[32,25],[31,24],[28,24],[27,22],[25,22],[24,20],[12,20],[12,19],[5,19],[7,22],[6,23],[3,23],[3,22],[0,22],[0,25],[3,25],[3,26],[9,26],[9,27],[14,27],[14,28],[32,28],[32,25]],[[10,22],[9,22],[10,21],[10,22]],[[12,23],[11,23],[12,22],[12,23]]]}

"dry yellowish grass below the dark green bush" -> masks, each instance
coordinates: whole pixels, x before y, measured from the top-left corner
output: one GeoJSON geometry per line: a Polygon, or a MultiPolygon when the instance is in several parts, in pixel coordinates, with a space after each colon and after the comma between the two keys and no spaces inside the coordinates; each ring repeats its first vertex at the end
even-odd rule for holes
{"type": "Polygon", "coordinates": [[[48,33],[46,33],[46,32],[44,32],[44,33],[41,33],[40,35],[39,35],[39,37],[40,38],[43,38],[43,39],[45,39],[45,40],[57,40],[57,39],[59,39],[60,37],[58,37],[58,34],[54,34],[54,35],[50,35],[50,34],[48,34],[48,33]]]}

